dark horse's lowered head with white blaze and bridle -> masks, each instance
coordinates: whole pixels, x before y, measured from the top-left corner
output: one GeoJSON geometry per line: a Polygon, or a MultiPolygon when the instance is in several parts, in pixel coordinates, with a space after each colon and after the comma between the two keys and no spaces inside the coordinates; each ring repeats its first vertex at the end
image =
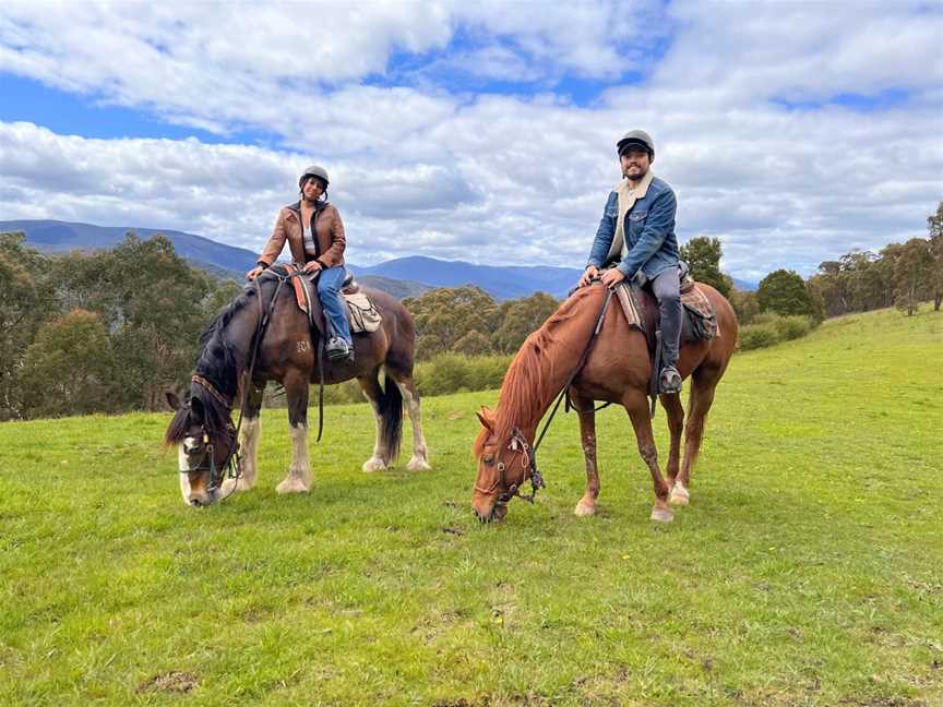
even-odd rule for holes
{"type": "Polygon", "coordinates": [[[177,445],[183,503],[211,505],[219,499],[225,470],[237,463],[236,430],[229,410],[195,394],[183,403],[167,393],[167,404],[175,415],[164,443],[177,445]]]}

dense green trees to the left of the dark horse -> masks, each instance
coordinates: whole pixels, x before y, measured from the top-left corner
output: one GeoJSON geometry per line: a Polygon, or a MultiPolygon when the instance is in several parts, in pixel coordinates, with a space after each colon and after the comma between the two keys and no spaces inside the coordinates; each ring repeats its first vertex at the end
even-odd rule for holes
{"type": "Polygon", "coordinates": [[[0,420],[158,409],[239,286],[163,236],[47,255],[0,233],[0,420]]]}

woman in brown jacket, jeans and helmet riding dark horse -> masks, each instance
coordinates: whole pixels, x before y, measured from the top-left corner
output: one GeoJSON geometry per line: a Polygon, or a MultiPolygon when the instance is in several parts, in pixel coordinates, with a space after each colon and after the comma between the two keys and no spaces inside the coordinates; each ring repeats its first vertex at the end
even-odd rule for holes
{"type": "Polygon", "coordinates": [[[337,207],[327,201],[327,171],[312,165],[301,173],[298,189],[301,199],[278,213],[275,230],[262,250],[255,267],[246,274],[255,279],[270,267],[282,253],[285,241],[291,251],[291,260],[302,264],[306,273],[318,273],[318,295],[327,315],[330,334],[325,352],[332,360],[354,356],[350,325],[341,301],[341,284],[344,281],[344,224],[337,207]]]}

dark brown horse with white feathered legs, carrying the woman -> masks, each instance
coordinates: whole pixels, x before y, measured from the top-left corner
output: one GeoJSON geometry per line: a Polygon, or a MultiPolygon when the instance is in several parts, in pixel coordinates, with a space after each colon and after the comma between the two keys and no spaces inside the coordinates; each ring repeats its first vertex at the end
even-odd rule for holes
{"type": "MultiPolygon", "coordinates": [[[[190,386],[190,398],[182,403],[168,394],[176,409],[165,434],[165,443],[178,445],[180,491],[190,505],[208,505],[234,490],[248,490],[255,483],[262,393],[268,381],[285,387],[289,435],[293,443],[288,475],[278,493],[307,492],[311,488],[308,462],[308,392],[319,380],[319,337],[311,332],[308,314],[301,311],[290,286],[279,287],[279,276],[259,278],[259,287],[248,286],[200,337],[200,356],[190,386]],[[276,298],[273,302],[273,298],[276,298]],[[258,345],[251,381],[246,378],[252,359],[260,322],[271,309],[271,317],[258,345]],[[240,391],[240,384],[248,387],[240,391]],[[246,405],[241,420],[241,447],[232,426],[234,406],[246,405]],[[236,454],[241,448],[240,454],[236,454]],[[238,459],[236,478],[224,481],[223,469],[238,459]]],[[[284,278],[282,278],[284,279],[284,278]]],[[[365,471],[392,465],[399,453],[404,399],[413,422],[413,458],[409,470],[429,469],[426,440],[419,410],[419,395],[413,381],[415,329],[413,316],[393,297],[363,290],[382,315],[380,328],[354,335],[354,361],[323,362],[325,383],[356,378],[373,408],[377,441],[365,471]],[[380,386],[380,367],[385,369],[385,385],[380,386]]]]}

